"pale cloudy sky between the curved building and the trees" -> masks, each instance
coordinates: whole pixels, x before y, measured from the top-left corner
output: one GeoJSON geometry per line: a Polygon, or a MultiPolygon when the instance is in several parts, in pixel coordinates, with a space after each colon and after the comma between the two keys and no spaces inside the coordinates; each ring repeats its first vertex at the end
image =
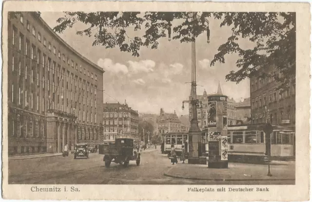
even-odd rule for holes
{"type": "MultiPolygon", "coordinates": [[[[53,28],[56,20],[63,17],[59,12],[42,12],[41,17],[53,28]]],[[[249,79],[236,84],[226,81],[225,75],[232,70],[238,70],[236,60],[238,55],[227,55],[225,63],[216,62],[210,66],[210,61],[217,53],[217,48],[227,41],[232,34],[230,27],[220,28],[220,20],[210,21],[210,43],[207,43],[206,33],[196,38],[196,81],[197,94],[202,95],[217,91],[220,82],[223,94],[240,101],[250,97],[249,79]]],[[[81,24],[66,29],[59,36],[70,46],[105,70],[103,74],[103,102],[126,103],[139,113],[157,113],[160,108],[165,112],[177,115],[188,114],[187,108],[182,110],[182,101],[187,100],[191,90],[191,43],[180,43],[168,38],[159,40],[156,50],[146,47],[140,49],[140,56],[120,52],[119,48],[106,49],[102,46],[92,46],[93,37],[78,36],[77,31],[83,30],[81,24]]],[[[143,30],[129,30],[129,37],[142,36],[143,30]]],[[[249,47],[249,41],[242,40],[242,47],[249,47]]],[[[185,106],[186,107],[186,106],[185,106]]]]}

